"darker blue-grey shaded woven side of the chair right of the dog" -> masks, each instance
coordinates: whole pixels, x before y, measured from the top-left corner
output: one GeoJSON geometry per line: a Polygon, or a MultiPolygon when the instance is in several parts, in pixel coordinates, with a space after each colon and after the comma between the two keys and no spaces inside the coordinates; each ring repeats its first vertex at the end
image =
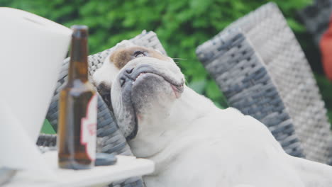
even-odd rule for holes
{"type": "Polygon", "coordinates": [[[304,156],[275,84],[243,33],[233,30],[218,35],[201,45],[197,55],[217,81],[229,106],[264,123],[285,152],[304,156]]]}

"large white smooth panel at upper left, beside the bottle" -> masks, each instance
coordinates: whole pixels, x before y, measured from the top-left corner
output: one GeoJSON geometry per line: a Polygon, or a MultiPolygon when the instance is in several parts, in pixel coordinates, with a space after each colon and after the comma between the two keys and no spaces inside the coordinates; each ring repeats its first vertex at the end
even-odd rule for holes
{"type": "MultiPolygon", "coordinates": [[[[72,30],[14,8],[0,8],[0,26],[0,98],[10,104],[13,115],[35,142],[72,30]]],[[[0,123],[1,131],[4,123],[0,123]]],[[[0,143],[4,141],[12,140],[0,137],[0,143]]]]}

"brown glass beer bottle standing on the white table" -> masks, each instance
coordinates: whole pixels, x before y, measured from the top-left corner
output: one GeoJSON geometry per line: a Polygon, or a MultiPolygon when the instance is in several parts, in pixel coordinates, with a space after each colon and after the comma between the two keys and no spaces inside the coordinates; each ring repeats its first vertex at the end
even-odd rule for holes
{"type": "Polygon", "coordinates": [[[68,80],[60,91],[58,165],[90,169],[96,155],[97,96],[88,81],[87,26],[72,26],[68,80]]]}

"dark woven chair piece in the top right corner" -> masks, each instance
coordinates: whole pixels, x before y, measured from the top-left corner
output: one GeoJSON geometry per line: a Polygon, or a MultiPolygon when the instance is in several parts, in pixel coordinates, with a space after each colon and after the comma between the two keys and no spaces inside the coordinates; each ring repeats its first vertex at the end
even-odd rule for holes
{"type": "Polygon", "coordinates": [[[306,30],[313,35],[316,45],[319,45],[321,35],[328,28],[331,13],[331,0],[316,0],[298,13],[301,21],[306,26],[306,30]]]}

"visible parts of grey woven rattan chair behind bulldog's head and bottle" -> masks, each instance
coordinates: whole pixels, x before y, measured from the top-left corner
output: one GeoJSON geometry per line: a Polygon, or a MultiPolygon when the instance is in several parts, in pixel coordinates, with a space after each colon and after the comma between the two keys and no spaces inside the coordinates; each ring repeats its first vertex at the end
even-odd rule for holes
{"type": "MultiPolygon", "coordinates": [[[[145,32],[140,35],[132,38],[131,41],[140,46],[144,47],[152,47],[160,52],[166,54],[163,49],[160,41],[157,38],[157,35],[153,32],[145,32]]],[[[95,55],[89,55],[89,76],[91,77],[96,69],[101,67],[105,58],[110,54],[113,50],[113,47],[104,50],[103,52],[99,52],[95,55]]],[[[59,79],[57,81],[57,88],[55,90],[54,96],[52,97],[52,102],[50,104],[50,108],[48,110],[47,118],[50,121],[53,128],[57,129],[57,103],[59,100],[59,92],[63,86],[65,86],[65,81],[67,80],[67,72],[69,59],[65,60],[62,64],[62,69],[60,71],[59,79]]],[[[98,100],[98,121],[97,121],[97,151],[105,152],[105,153],[116,153],[123,155],[133,155],[130,147],[126,142],[126,138],[123,137],[121,131],[118,129],[118,125],[114,120],[113,113],[109,110],[109,107],[103,101],[101,96],[99,95],[98,100]]],[[[41,149],[50,149],[49,147],[55,147],[56,135],[40,135],[38,138],[37,145],[40,146],[41,149]]],[[[131,179],[126,179],[125,181],[118,181],[112,183],[110,186],[143,186],[143,181],[140,177],[134,177],[131,179]]]]}

